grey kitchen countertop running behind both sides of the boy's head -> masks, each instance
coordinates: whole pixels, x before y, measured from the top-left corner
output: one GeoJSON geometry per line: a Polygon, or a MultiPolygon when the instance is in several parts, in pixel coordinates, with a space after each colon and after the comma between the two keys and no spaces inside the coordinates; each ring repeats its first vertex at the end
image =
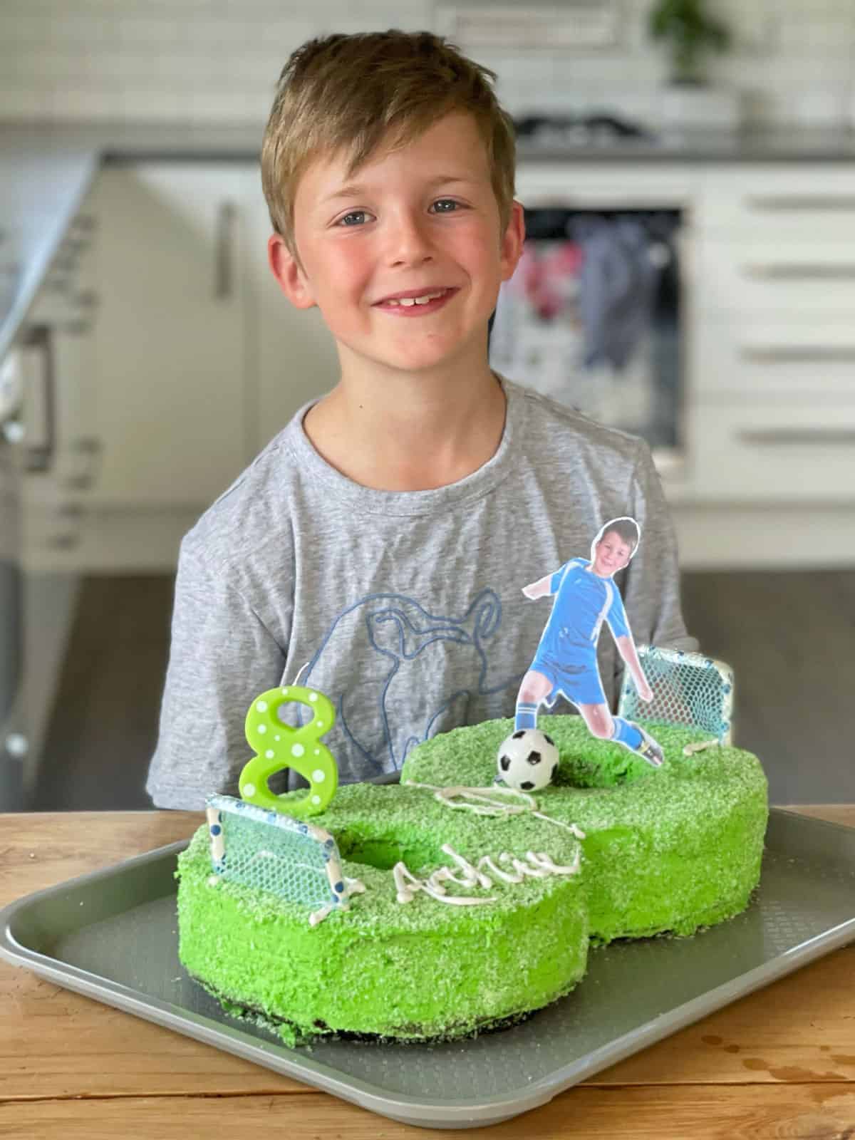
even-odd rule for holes
{"type": "MultiPolygon", "coordinates": [[[[6,356],[68,222],[104,162],[252,162],[262,123],[41,124],[0,121],[0,360],[6,356]]],[[[850,130],[669,130],[654,141],[544,149],[524,140],[520,163],[849,163],[850,130]]]]}

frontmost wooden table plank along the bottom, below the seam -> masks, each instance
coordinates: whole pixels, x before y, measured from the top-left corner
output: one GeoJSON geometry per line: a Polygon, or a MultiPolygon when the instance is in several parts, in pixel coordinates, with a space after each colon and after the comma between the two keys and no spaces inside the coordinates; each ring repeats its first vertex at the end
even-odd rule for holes
{"type": "MultiPolygon", "coordinates": [[[[0,1102],[5,1140],[176,1140],[177,1137],[296,1137],[301,1140],[448,1140],[311,1092],[279,1097],[114,1098],[0,1102]]],[[[845,1140],[855,1134],[846,1084],[746,1090],[728,1085],[597,1089],[579,1085],[524,1116],[475,1127],[466,1140],[845,1140]]]]}

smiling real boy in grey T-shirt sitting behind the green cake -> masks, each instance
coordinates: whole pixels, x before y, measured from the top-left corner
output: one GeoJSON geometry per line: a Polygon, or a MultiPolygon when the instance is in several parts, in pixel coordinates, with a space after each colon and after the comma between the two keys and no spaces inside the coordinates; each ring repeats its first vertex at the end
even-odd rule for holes
{"type": "MultiPolygon", "coordinates": [[[[292,304],[319,307],[340,376],[182,543],[158,806],[235,793],[250,702],[298,673],[334,702],[324,742],[345,782],[507,715],[538,640],[519,583],[602,519],[645,528],[624,591],[636,632],[694,645],[646,446],[488,366],[523,242],[490,79],[397,31],[310,41],[283,71],[261,156],[269,260],[292,304]]],[[[619,662],[601,650],[612,700],[619,662]]]]}

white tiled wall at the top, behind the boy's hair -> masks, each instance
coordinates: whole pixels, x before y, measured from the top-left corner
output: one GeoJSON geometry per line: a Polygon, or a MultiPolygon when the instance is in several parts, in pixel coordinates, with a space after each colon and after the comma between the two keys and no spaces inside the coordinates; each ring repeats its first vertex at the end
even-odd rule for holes
{"type": "MultiPolygon", "coordinates": [[[[612,2],[614,48],[467,50],[498,72],[512,112],[609,103],[643,115],[666,74],[645,33],[652,0],[612,2]]],[[[855,124],[855,0],[710,8],[736,39],[714,74],[744,92],[749,122],[855,124]]],[[[438,18],[433,0],[0,0],[0,119],[262,121],[285,58],[309,36],[435,28],[438,18]]]]}

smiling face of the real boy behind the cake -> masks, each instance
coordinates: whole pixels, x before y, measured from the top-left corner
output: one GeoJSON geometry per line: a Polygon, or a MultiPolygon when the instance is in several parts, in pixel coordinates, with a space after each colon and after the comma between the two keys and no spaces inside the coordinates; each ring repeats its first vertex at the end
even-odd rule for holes
{"type": "Polygon", "coordinates": [[[455,113],[410,145],[369,158],[315,160],[294,199],[300,261],[278,235],[270,264],[298,308],[318,306],[342,375],[487,364],[487,321],[522,251],[522,206],[500,233],[484,146],[455,113]],[[421,304],[401,300],[429,299],[421,304]]]}

